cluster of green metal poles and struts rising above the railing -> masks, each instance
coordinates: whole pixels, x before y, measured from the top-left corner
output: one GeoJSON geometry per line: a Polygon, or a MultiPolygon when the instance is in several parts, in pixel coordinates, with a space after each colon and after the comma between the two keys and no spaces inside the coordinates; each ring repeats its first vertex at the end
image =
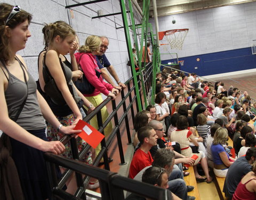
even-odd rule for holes
{"type": "MultiPolygon", "coordinates": [[[[125,29],[125,33],[127,33],[127,35],[129,35],[129,30],[130,27],[128,26],[128,21],[127,21],[127,12],[125,9],[125,1],[121,0],[121,9],[122,9],[122,16],[123,16],[123,22],[124,22],[124,29],[125,29]]],[[[145,0],[143,1],[143,9],[142,9],[142,22],[141,25],[135,25],[135,19],[134,19],[134,15],[133,15],[133,8],[132,8],[132,2],[131,0],[126,1],[129,4],[129,10],[130,10],[130,16],[131,16],[131,30],[133,32],[133,36],[134,36],[134,44],[135,44],[135,48],[137,50],[137,57],[138,57],[138,66],[139,66],[139,72],[138,74],[140,75],[140,79],[143,80],[143,76],[142,76],[142,71],[145,70],[145,66],[146,65],[146,61],[144,60],[144,63],[142,65],[142,51],[139,51],[139,42],[138,42],[138,35],[137,35],[137,29],[141,30],[141,39],[140,39],[140,50],[143,49],[143,46],[147,46],[147,41],[148,38],[150,38],[151,44],[152,44],[152,52],[153,52],[153,59],[152,59],[152,65],[153,65],[153,78],[152,78],[152,83],[151,83],[151,104],[154,104],[154,98],[155,98],[155,87],[156,87],[156,82],[155,82],[155,78],[156,77],[156,73],[157,71],[160,70],[160,65],[161,65],[161,59],[160,59],[160,54],[159,54],[159,47],[156,43],[156,35],[153,34],[153,30],[152,30],[152,25],[151,23],[149,23],[149,5],[150,5],[150,1],[149,0],[145,0]]],[[[128,14],[129,14],[128,13],[128,14]]],[[[137,94],[139,93],[139,88],[138,88],[138,84],[137,83],[137,73],[135,71],[135,65],[134,65],[134,61],[133,61],[133,57],[132,57],[132,47],[131,47],[131,39],[130,39],[130,35],[129,37],[126,38],[126,42],[127,42],[127,49],[129,50],[129,59],[131,62],[131,66],[132,66],[132,74],[133,74],[133,78],[134,78],[134,83],[135,83],[135,88],[136,88],[136,92],[137,94]],[[131,49],[130,49],[131,48],[131,49]]],[[[145,55],[147,54],[147,48],[145,48],[145,55]]],[[[146,91],[145,91],[145,86],[144,84],[142,84],[142,91],[143,91],[143,99],[144,99],[144,103],[145,103],[145,107],[147,107],[147,95],[146,95],[146,91]]],[[[139,104],[139,110],[141,111],[141,99],[138,98],[138,104],[139,104]]]]}

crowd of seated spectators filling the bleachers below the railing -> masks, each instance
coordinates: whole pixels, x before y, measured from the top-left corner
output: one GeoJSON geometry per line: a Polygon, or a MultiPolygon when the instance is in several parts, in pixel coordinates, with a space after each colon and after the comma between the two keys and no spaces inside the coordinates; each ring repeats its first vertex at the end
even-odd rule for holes
{"type": "MultiPolygon", "coordinates": [[[[186,167],[179,165],[192,162],[190,166],[194,166],[196,180],[207,183],[212,181],[209,168],[215,176],[228,177],[231,180],[229,170],[231,169],[231,174],[236,171],[233,165],[242,165],[241,161],[245,163],[244,166],[246,163],[247,165],[254,163],[256,139],[252,122],[256,119],[256,103],[251,105],[252,100],[247,92],[241,95],[236,87],[230,86],[229,89],[226,89],[222,82],[214,84],[202,81],[194,73],[187,75],[178,73],[178,71],[175,73],[171,71],[170,74],[167,74],[164,70],[164,73],[158,74],[157,81],[155,105],[147,107],[151,122],[146,127],[153,128],[150,129],[152,131],[148,131],[152,135],[140,135],[140,131],[138,131],[138,138],[142,138],[140,138],[140,147],[135,148],[135,157],[130,167],[130,178],[136,177],[138,173],[141,177],[142,172],[155,162],[156,154],[162,152],[159,151],[160,149],[165,149],[166,152],[167,149],[170,150],[169,154],[174,152],[174,163],[178,165],[174,167],[176,171],[183,172],[183,176],[188,175],[184,172],[186,167]],[[233,152],[230,150],[232,147],[228,146],[228,138],[233,140],[235,155],[231,153],[233,152]],[[140,150],[140,154],[143,151],[144,157],[139,156],[142,157],[140,160],[137,155],[138,150],[140,150]],[[196,157],[194,157],[195,155],[196,157]],[[191,160],[178,161],[178,159],[185,158],[191,160]],[[143,164],[136,172],[134,169],[138,166],[135,166],[134,162],[139,163],[138,165],[143,164]],[[197,172],[198,163],[202,167],[204,176],[197,172]],[[143,167],[145,167],[144,170],[143,167]]],[[[146,121],[147,119],[145,119],[146,121]]],[[[251,170],[248,167],[243,173],[243,175],[247,174],[247,179],[243,180],[242,175],[236,179],[236,186],[239,182],[242,185],[238,187],[239,191],[237,192],[236,188],[231,186],[234,185],[233,181],[225,182],[223,190],[228,198],[232,198],[233,194],[236,194],[235,199],[242,199],[239,192],[241,192],[241,187],[245,187],[243,184],[250,185],[248,188],[246,185],[247,193],[255,192],[251,189],[254,181],[250,180],[255,176],[251,170]]],[[[181,177],[175,176],[176,179],[182,180],[181,177]]],[[[173,177],[172,179],[169,177],[169,181],[175,180],[173,177]]],[[[180,188],[184,187],[180,186],[180,188]]],[[[171,187],[169,189],[175,195],[174,198],[194,198],[182,196],[171,187]]]]}

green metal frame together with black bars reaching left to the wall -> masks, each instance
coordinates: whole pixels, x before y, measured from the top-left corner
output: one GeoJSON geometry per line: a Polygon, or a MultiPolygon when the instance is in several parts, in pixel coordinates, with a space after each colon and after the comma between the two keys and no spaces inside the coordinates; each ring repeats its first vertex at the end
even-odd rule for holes
{"type": "MultiPolygon", "coordinates": [[[[86,5],[86,4],[92,4],[92,3],[99,3],[103,1],[108,1],[108,0],[95,0],[91,2],[84,2],[84,3],[79,3],[79,4],[74,4],[74,5],[69,5],[66,6],[66,9],[70,7],[76,7],[76,6],[81,6],[81,5],[86,5]]],[[[159,46],[156,43],[156,35],[153,34],[152,26],[151,23],[149,23],[149,5],[150,5],[150,0],[144,0],[143,1],[143,9],[142,9],[142,19],[141,19],[141,25],[135,25],[135,19],[133,15],[133,6],[132,6],[132,0],[119,0],[120,7],[121,7],[121,12],[119,13],[113,13],[113,14],[107,14],[107,15],[101,15],[94,18],[100,18],[100,17],[107,17],[110,15],[116,15],[116,14],[122,14],[122,19],[123,19],[123,27],[118,27],[118,28],[124,28],[124,33],[125,33],[125,38],[126,38],[126,45],[127,45],[127,52],[129,54],[129,59],[131,63],[131,68],[132,68],[132,75],[133,75],[133,80],[134,80],[134,86],[135,86],[135,91],[137,94],[137,105],[138,105],[138,110],[141,111],[143,108],[142,106],[142,100],[140,97],[140,90],[138,86],[138,79],[137,75],[140,76],[141,82],[143,81],[143,76],[142,72],[145,70],[145,67],[142,68],[142,50],[143,46],[147,46],[147,41],[148,38],[151,40],[152,44],[152,49],[153,49],[153,59],[152,59],[152,65],[153,65],[153,78],[152,78],[152,89],[151,89],[151,103],[154,103],[154,97],[155,97],[155,78],[157,71],[160,69],[161,65],[161,60],[160,60],[160,54],[159,54],[159,46]],[[129,9],[129,11],[126,10],[126,7],[129,9]],[[127,20],[127,15],[130,14],[130,19],[131,19],[131,26],[129,26],[129,21],[127,20]],[[130,28],[131,27],[131,28],[130,28]],[[141,39],[140,43],[138,42],[138,35],[137,35],[137,29],[140,29],[141,31],[141,39]],[[135,43],[135,48],[137,50],[137,57],[138,57],[138,65],[139,65],[139,71],[138,73],[135,71],[135,65],[133,61],[133,55],[132,55],[132,42],[131,42],[131,36],[130,33],[131,31],[134,36],[134,43],[135,43]],[[148,35],[149,34],[149,35],[148,35]],[[140,48],[139,48],[140,45],[140,48]]],[[[147,53],[147,48],[145,48],[145,54],[147,53]]],[[[145,62],[144,65],[145,66],[145,62]]],[[[146,90],[145,90],[145,85],[142,82],[142,93],[143,93],[143,99],[145,103],[145,107],[147,107],[147,95],[146,95],[146,90]]]]}

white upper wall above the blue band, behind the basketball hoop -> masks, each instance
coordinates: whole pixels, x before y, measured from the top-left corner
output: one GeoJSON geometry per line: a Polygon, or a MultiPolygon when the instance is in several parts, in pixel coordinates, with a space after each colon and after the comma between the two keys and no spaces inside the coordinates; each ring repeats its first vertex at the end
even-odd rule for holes
{"type": "MultiPolygon", "coordinates": [[[[159,31],[189,28],[182,50],[171,51],[179,57],[240,49],[256,39],[255,10],[256,2],[252,2],[169,15],[158,18],[159,31]]],[[[160,51],[166,53],[163,47],[160,51]]],[[[161,55],[161,59],[170,59],[170,55],[161,55]]]]}

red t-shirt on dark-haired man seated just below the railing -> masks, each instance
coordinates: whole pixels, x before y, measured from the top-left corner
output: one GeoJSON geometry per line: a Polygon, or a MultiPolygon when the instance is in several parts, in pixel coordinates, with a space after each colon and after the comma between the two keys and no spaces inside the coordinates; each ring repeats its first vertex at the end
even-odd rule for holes
{"type": "Polygon", "coordinates": [[[153,161],[154,160],[149,151],[146,154],[141,149],[138,149],[132,158],[129,170],[129,177],[133,179],[135,175],[137,175],[146,166],[152,165],[153,161]]]}

